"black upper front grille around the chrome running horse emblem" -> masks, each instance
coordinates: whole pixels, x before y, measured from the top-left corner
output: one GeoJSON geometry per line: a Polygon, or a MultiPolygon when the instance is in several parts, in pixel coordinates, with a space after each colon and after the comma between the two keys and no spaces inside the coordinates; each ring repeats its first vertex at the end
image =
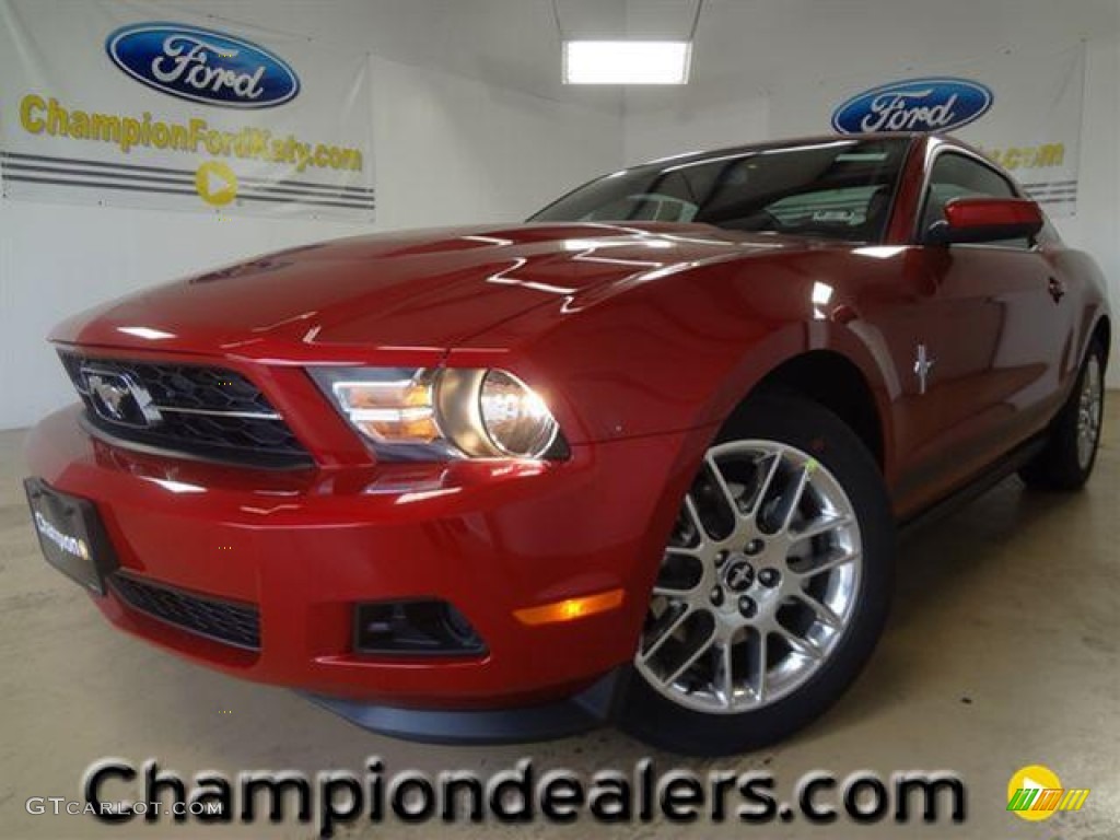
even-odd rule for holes
{"type": "Polygon", "coordinates": [[[87,358],[59,353],[88,421],[125,444],[261,467],[309,466],[311,457],[252,382],[207,365],[87,358]],[[120,418],[92,392],[92,375],[134,383],[150,395],[149,416],[129,395],[120,418]],[[155,419],[153,419],[155,418],[155,419]]]}

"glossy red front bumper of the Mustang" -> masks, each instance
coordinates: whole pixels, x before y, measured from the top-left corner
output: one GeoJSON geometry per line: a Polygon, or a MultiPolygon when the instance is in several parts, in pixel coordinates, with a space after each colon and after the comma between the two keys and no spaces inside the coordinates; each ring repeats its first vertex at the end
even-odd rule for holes
{"type": "Polygon", "coordinates": [[[260,648],[171,626],[112,590],[94,598],[105,616],[195,662],[352,710],[547,704],[628,663],[690,479],[678,466],[684,435],[579,446],[560,464],[268,472],[111,446],[78,416],[67,409],[32,430],[34,473],[96,504],[128,575],[254,605],[260,648]],[[625,590],[617,608],[575,620],[526,625],[514,615],[616,588],[625,590]],[[356,604],[418,597],[457,607],[486,653],[354,652],[356,604]]]}

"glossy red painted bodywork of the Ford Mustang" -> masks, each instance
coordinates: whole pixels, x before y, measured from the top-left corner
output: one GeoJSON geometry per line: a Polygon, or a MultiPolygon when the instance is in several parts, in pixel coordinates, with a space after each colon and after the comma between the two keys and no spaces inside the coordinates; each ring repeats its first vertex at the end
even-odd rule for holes
{"type": "Polygon", "coordinates": [[[925,174],[944,148],[958,147],[913,140],[887,233],[871,245],[690,224],[455,228],[293,249],[133,295],[52,339],[91,356],[240,372],[315,467],[131,451],[91,437],[72,408],[32,431],[31,468],[96,503],[124,569],[259,606],[252,653],[112,592],[95,598],[113,623],[194,661],[393,706],[570,694],[633,657],[702,452],[783,363],[827,353],[858,370],[900,520],[1043,430],[1063,403],[1107,317],[1100,274],[1052,232],[1034,251],[913,244],[925,174]],[[918,343],[937,360],[926,393],[918,343]],[[510,371],[545,399],[571,456],[376,463],[310,364],[510,371]],[[614,588],[626,591],[616,609],[535,626],[514,617],[614,588]],[[463,610],[487,655],[352,652],[354,604],[419,596],[463,610]]]}

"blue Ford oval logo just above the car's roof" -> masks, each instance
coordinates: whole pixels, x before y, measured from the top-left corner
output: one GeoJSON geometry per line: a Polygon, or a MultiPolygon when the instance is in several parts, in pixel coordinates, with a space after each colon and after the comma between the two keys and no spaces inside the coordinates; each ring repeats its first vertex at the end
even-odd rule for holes
{"type": "Polygon", "coordinates": [[[989,87],[967,78],[908,78],[852,96],[832,112],[832,128],[841,134],[949,131],[979,120],[993,100],[989,87]]]}

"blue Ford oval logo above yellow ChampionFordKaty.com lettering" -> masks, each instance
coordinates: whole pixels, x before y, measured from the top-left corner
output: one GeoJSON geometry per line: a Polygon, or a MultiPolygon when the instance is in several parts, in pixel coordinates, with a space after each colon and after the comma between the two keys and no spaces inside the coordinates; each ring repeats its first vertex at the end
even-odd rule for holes
{"type": "Polygon", "coordinates": [[[105,41],[113,63],[162,93],[224,108],[276,108],[299,93],[299,77],[263,47],[209,29],[137,24],[105,41]]]}

